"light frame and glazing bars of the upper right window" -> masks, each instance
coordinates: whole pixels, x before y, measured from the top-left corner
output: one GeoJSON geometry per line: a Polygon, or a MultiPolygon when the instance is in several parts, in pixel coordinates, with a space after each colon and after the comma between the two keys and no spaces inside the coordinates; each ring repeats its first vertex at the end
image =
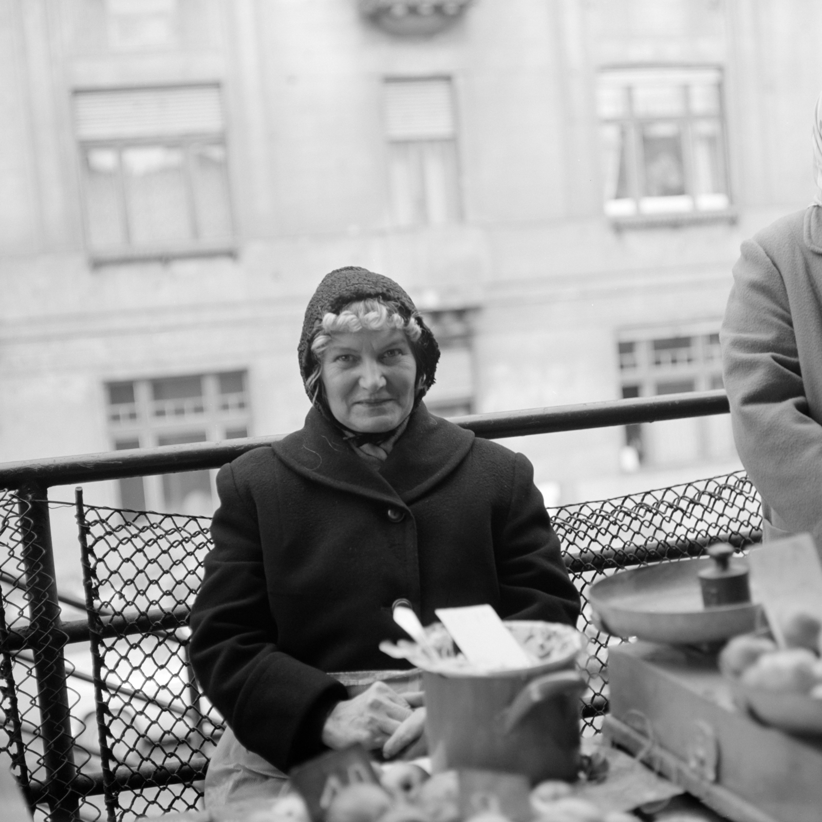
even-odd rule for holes
{"type": "MultiPolygon", "coordinates": [[[[604,193],[602,197],[603,215],[611,222],[611,224],[619,226],[630,225],[654,225],[654,224],[677,224],[677,223],[700,223],[700,222],[716,222],[716,221],[731,221],[735,222],[737,219],[737,210],[734,206],[733,192],[732,192],[732,175],[730,168],[730,151],[728,145],[728,128],[727,128],[727,107],[725,105],[725,76],[723,67],[717,64],[655,64],[655,65],[605,65],[599,67],[598,76],[596,80],[597,92],[601,86],[611,85],[621,88],[625,95],[626,113],[621,116],[607,115],[600,113],[598,105],[595,106],[598,134],[599,134],[599,157],[601,168],[603,165],[603,127],[616,126],[625,129],[626,146],[624,148],[626,153],[626,178],[630,196],[625,199],[630,199],[634,203],[634,212],[631,214],[615,214],[608,213],[607,204],[609,201],[605,200],[604,193]],[[680,114],[666,113],[666,114],[637,114],[635,113],[635,89],[639,87],[641,82],[636,80],[630,81],[630,74],[642,76],[647,74],[652,76],[653,72],[659,72],[661,78],[666,73],[672,76],[671,81],[667,83],[659,81],[658,85],[663,85],[667,88],[678,88],[681,90],[681,95],[684,101],[684,111],[680,114]],[[713,82],[713,88],[716,90],[718,109],[716,113],[696,113],[692,110],[689,87],[695,85],[700,74],[711,73],[716,76],[716,81],[713,82]],[[629,77],[626,81],[619,81],[620,74],[629,77]],[[686,77],[692,76],[688,81],[686,77]],[[678,76],[678,80],[673,78],[678,76]],[[725,191],[723,196],[727,198],[727,205],[718,209],[700,208],[698,204],[698,196],[695,189],[695,125],[699,122],[711,122],[718,125],[720,132],[720,139],[718,141],[718,148],[720,152],[721,180],[725,191]],[[644,159],[643,159],[643,130],[644,127],[653,124],[674,123],[679,129],[681,135],[681,155],[682,155],[682,171],[685,178],[685,193],[684,197],[690,198],[691,207],[687,210],[677,210],[672,208],[670,210],[643,210],[642,201],[650,199],[643,193],[644,182],[644,159]]],[[[658,196],[654,199],[662,201],[665,196],[658,196]]],[[[673,198],[673,196],[672,196],[673,198]]]]}

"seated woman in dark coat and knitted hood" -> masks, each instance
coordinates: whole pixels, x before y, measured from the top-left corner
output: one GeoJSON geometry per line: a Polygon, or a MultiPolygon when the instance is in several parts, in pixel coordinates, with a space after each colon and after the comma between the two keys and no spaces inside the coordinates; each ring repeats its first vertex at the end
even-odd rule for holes
{"type": "Polygon", "coordinates": [[[421,695],[380,681],[397,663],[378,644],[404,636],[398,600],[424,624],[435,608],[479,603],[509,619],[579,615],[528,459],[423,404],[440,352],[399,285],[332,271],[298,356],[305,426],[217,477],[191,642],[230,728],[210,766],[214,803],[327,748],[390,757],[413,741],[421,695]],[[374,684],[351,698],[339,672],[374,684]]]}

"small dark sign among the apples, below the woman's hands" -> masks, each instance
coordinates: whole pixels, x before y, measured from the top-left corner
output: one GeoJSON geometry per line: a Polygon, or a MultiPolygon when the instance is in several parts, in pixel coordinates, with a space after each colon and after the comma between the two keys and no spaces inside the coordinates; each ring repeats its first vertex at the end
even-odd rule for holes
{"type": "Polygon", "coordinates": [[[361,745],[330,750],[291,769],[289,778],[305,800],[312,822],[322,822],[326,818],[331,801],[346,785],[358,782],[380,784],[361,745]]]}

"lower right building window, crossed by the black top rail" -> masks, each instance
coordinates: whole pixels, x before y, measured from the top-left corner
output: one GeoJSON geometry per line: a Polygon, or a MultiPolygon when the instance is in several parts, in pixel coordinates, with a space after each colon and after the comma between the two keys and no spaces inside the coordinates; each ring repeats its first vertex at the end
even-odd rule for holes
{"type": "MultiPolygon", "coordinates": [[[[685,329],[626,332],[617,341],[623,399],[723,387],[719,321],[685,329]]],[[[621,467],[665,467],[735,454],[727,416],[626,426],[621,467]]]]}

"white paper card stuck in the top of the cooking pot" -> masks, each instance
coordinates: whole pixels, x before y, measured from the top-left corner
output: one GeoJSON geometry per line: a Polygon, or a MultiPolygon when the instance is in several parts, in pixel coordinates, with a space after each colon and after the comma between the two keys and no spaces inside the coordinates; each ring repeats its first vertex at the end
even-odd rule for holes
{"type": "Polygon", "coordinates": [[[489,670],[533,664],[490,605],[437,608],[434,613],[470,663],[489,670]]]}

